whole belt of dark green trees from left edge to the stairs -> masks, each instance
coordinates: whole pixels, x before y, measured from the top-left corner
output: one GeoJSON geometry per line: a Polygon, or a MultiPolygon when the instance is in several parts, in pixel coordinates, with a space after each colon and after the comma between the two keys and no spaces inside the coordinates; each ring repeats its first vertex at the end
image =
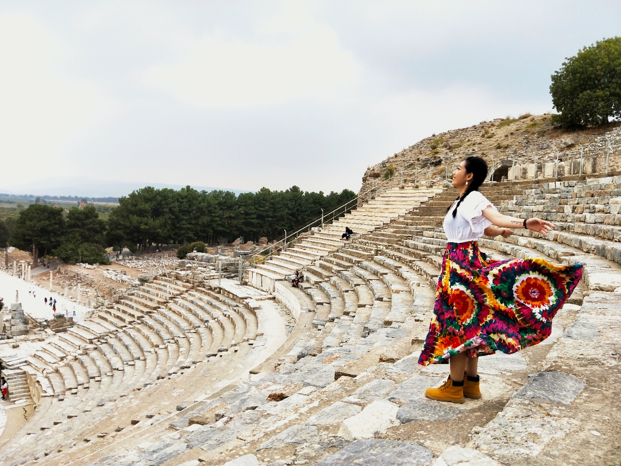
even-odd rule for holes
{"type": "Polygon", "coordinates": [[[101,262],[104,248],[132,251],[150,244],[187,244],[203,241],[226,244],[238,237],[272,240],[293,232],[322,214],[355,198],[351,190],[325,195],[292,186],[285,191],[261,188],[256,193],[156,189],[150,186],[119,198],[103,219],[87,206],[63,209],[30,204],[16,218],[0,221],[0,247],[54,255],[63,262],[101,262]]]}

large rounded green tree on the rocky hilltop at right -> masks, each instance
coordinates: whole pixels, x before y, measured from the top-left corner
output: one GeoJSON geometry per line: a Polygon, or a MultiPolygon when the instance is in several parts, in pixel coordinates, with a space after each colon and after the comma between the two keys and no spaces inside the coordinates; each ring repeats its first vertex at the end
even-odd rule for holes
{"type": "Polygon", "coordinates": [[[583,47],[551,76],[555,121],[564,127],[598,126],[621,117],[621,37],[583,47]]]}

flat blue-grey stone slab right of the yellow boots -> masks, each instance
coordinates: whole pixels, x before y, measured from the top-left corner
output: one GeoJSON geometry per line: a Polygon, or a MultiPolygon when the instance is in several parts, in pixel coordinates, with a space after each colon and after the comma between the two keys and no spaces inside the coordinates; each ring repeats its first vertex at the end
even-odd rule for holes
{"type": "Polygon", "coordinates": [[[539,398],[569,404],[584,390],[586,383],[562,372],[538,372],[528,378],[512,398],[539,398]]]}

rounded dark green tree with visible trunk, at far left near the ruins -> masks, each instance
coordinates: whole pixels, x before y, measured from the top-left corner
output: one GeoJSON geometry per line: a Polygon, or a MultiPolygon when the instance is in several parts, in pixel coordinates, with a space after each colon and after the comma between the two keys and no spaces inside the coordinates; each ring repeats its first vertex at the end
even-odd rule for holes
{"type": "Polygon", "coordinates": [[[30,204],[19,212],[14,230],[9,238],[11,245],[32,251],[34,267],[39,265],[39,252],[43,256],[57,247],[63,237],[63,209],[46,204],[30,204]]]}

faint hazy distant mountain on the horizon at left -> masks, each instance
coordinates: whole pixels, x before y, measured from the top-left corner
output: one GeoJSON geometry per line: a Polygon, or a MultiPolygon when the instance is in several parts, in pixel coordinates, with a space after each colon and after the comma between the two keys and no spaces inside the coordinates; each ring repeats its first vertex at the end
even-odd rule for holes
{"type": "MultiPolygon", "coordinates": [[[[179,190],[185,185],[166,185],[165,183],[149,183],[148,181],[114,181],[97,180],[96,178],[45,179],[21,183],[19,185],[0,185],[0,193],[7,194],[34,194],[35,196],[81,196],[88,198],[104,198],[108,196],[127,196],[132,191],[153,186],[153,188],[170,188],[179,190]]],[[[232,188],[214,188],[212,186],[192,186],[198,191],[232,191],[235,194],[250,193],[248,190],[233,190],[232,188]]]]}

